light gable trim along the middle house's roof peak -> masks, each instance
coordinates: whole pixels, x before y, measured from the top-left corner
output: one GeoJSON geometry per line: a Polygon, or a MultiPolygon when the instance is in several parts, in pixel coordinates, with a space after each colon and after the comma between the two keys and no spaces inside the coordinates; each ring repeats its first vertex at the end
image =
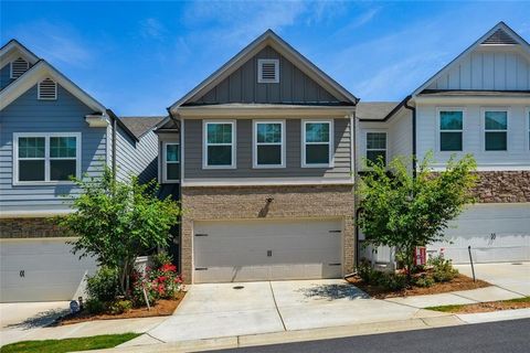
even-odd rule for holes
{"type": "Polygon", "coordinates": [[[230,76],[233,72],[240,68],[246,61],[257,54],[261,50],[266,47],[267,45],[275,49],[278,53],[285,56],[287,60],[293,62],[303,73],[308,75],[310,78],[315,79],[319,85],[324,88],[329,90],[333,96],[338,99],[348,100],[351,103],[357,103],[359,99],[349,93],[344,87],[329,77],[326,73],[324,73],[320,68],[318,68],[315,64],[309,62],[304,55],[298,53],[293,46],[290,46],[287,42],[280,39],[276,33],[268,30],[256,40],[254,40],[251,44],[248,44],[245,49],[243,49],[240,53],[237,53],[234,57],[232,57],[229,62],[226,62],[223,66],[221,66],[218,71],[215,71],[212,75],[210,75],[206,79],[200,83],[195,88],[190,90],[187,95],[182,98],[177,100],[173,105],[170,106],[170,110],[172,113],[176,109],[184,104],[186,101],[206,93],[211,87],[215,86],[216,84],[221,83],[224,78],[230,76]]]}

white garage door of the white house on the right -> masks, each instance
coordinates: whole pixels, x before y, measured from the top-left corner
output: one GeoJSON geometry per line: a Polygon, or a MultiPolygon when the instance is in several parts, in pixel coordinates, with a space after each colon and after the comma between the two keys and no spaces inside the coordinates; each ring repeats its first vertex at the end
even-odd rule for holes
{"type": "Polygon", "coordinates": [[[447,240],[431,246],[444,248],[455,264],[530,260],[530,203],[470,206],[446,232],[447,240]]]}

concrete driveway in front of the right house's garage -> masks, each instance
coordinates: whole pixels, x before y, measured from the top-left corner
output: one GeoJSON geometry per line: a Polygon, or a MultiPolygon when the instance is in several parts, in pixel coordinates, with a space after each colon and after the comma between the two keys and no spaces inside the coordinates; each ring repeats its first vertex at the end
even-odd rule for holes
{"type": "MultiPolygon", "coordinates": [[[[456,265],[460,274],[471,277],[470,265],[456,265]]],[[[530,263],[476,264],[475,275],[506,290],[530,296],[530,263]]]]}

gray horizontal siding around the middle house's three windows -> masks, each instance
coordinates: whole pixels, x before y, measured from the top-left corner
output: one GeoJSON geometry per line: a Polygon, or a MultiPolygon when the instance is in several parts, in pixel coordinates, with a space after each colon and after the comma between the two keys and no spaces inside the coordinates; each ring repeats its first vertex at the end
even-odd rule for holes
{"type": "Polygon", "coordinates": [[[252,168],[252,119],[236,121],[236,169],[202,169],[202,120],[184,121],[184,179],[234,178],[349,178],[351,170],[350,120],[335,119],[333,168],[301,168],[301,120],[286,119],[286,168],[252,168]]]}

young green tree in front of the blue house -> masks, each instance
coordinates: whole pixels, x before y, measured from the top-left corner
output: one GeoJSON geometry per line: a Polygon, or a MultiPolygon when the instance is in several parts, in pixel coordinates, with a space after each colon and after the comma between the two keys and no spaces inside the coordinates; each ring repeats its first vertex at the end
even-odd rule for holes
{"type": "Polygon", "coordinates": [[[61,227],[78,238],[71,244],[81,257],[94,256],[98,265],[117,268],[123,295],[130,289],[136,258],[166,247],[169,229],[180,215],[179,205],[159,200],[159,185],[116,181],[107,168],[102,178],[75,180],[81,195],[72,199],[73,213],[57,217],[61,227]]]}

